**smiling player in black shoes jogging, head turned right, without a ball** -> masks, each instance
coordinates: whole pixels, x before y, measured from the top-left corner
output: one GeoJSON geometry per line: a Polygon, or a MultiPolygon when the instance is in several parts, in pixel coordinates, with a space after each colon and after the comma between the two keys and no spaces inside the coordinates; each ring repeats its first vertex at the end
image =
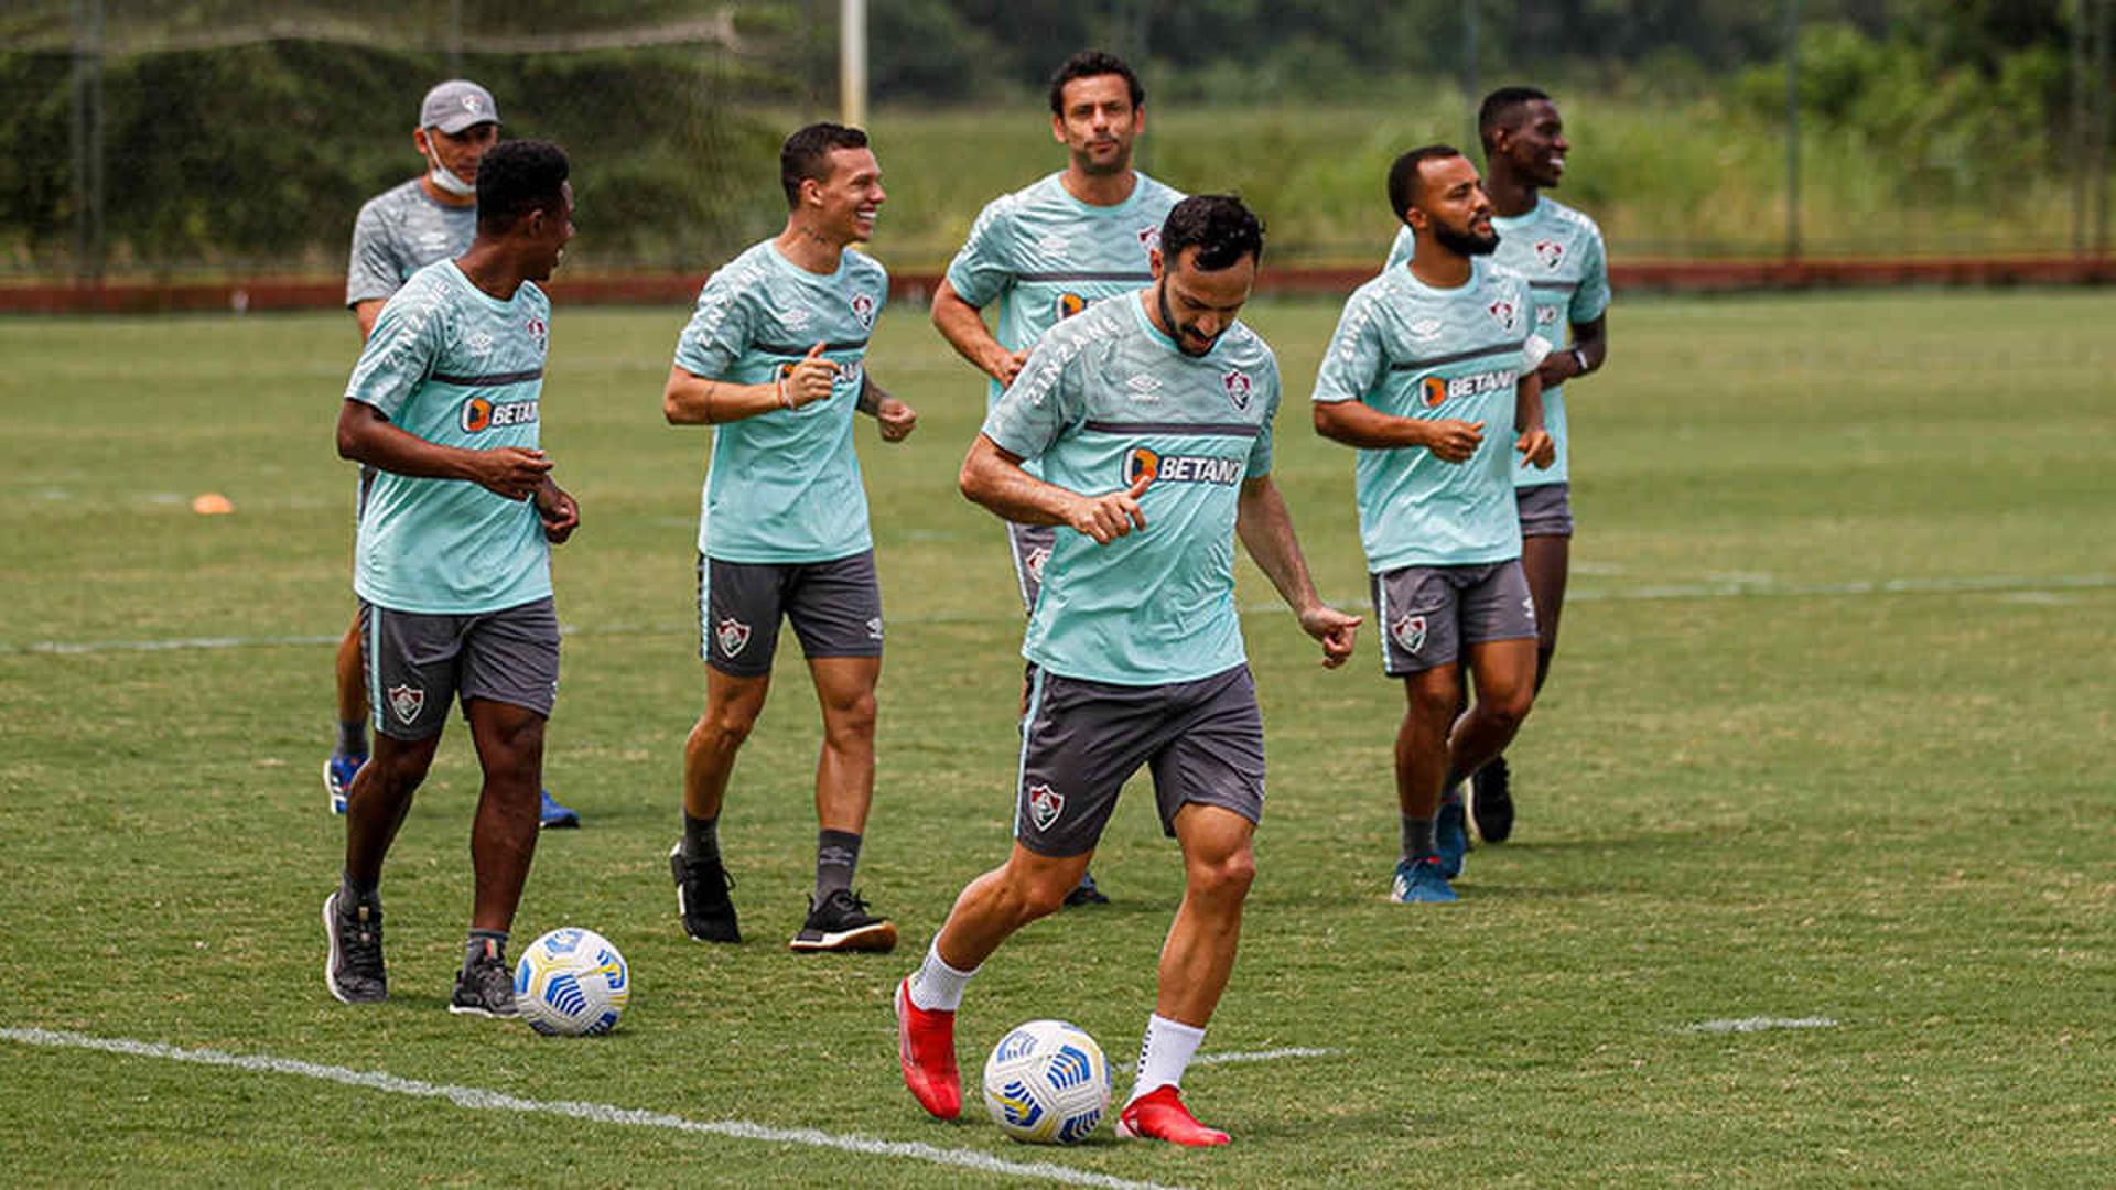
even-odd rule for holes
{"type": "Polygon", "coordinates": [[[823,707],[815,773],[815,891],[794,951],[889,951],[853,870],[874,800],[874,684],[882,595],[853,413],[889,443],[918,417],[863,364],[889,275],[863,252],[887,195],[868,133],[819,123],[779,150],[787,224],[698,294],[662,392],[671,426],[713,426],[698,517],[705,714],[683,745],[683,839],[669,851],[683,932],[738,942],[719,809],[764,709],[781,616],[794,623],[823,707]]]}

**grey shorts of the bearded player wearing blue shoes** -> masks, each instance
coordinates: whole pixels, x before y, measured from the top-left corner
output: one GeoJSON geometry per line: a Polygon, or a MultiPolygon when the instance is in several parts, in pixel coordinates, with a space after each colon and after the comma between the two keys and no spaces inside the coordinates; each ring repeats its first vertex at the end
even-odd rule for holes
{"type": "Polygon", "coordinates": [[[1420,673],[1494,639],[1536,639],[1536,601],[1521,559],[1479,565],[1405,565],[1369,574],[1382,625],[1382,671],[1420,673]]]}

